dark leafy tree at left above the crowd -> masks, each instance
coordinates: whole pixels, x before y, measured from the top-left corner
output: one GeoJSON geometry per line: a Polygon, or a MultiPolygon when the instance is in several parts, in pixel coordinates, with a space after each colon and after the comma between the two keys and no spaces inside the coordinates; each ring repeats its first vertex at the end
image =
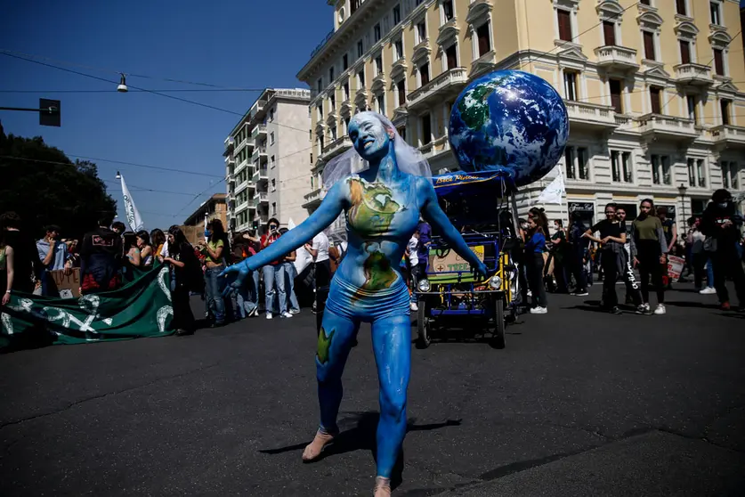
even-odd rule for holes
{"type": "Polygon", "coordinates": [[[5,135],[0,126],[0,213],[15,211],[34,234],[57,224],[63,238],[82,238],[100,216],[117,210],[93,162],[71,161],[41,136],[5,135]]]}

